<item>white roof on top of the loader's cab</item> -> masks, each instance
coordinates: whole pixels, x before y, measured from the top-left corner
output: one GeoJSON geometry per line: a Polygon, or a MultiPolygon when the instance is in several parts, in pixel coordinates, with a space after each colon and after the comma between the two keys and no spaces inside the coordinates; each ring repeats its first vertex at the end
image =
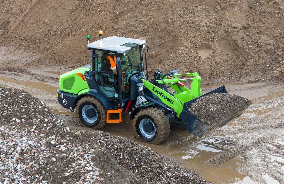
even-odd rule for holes
{"type": "Polygon", "coordinates": [[[121,46],[126,43],[134,43],[138,45],[143,45],[146,43],[145,40],[139,40],[134,38],[124,38],[119,36],[110,36],[97,40],[88,44],[89,48],[96,48],[101,50],[115,51],[118,53],[124,53],[126,50],[130,50],[130,47],[121,46]]]}

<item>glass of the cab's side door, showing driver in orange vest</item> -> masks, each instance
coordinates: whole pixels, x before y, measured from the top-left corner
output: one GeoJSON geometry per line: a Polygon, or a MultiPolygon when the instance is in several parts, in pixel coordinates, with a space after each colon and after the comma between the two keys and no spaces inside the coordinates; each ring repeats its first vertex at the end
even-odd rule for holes
{"type": "Polygon", "coordinates": [[[108,98],[118,100],[118,76],[113,71],[115,61],[115,52],[95,50],[95,54],[98,55],[95,58],[95,71],[100,72],[96,74],[96,81],[99,85],[99,89],[108,98]]]}

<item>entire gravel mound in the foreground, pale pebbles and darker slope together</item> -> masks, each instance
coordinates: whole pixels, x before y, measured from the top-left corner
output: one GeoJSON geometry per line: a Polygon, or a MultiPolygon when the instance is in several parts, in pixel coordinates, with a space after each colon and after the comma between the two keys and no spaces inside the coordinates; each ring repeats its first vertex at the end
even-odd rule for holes
{"type": "Polygon", "coordinates": [[[75,131],[25,91],[0,88],[0,183],[210,183],[148,147],[75,131]]]}

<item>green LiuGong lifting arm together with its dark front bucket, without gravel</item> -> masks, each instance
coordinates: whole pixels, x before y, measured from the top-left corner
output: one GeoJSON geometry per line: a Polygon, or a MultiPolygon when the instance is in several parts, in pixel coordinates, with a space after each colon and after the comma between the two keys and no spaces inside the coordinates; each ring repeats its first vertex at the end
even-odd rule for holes
{"type": "MultiPolygon", "coordinates": [[[[201,95],[200,90],[200,76],[198,73],[185,73],[177,75],[169,75],[163,77],[163,80],[156,80],[160,85],[168,85],[176,91],[176,94],[170,94],[167,91],[157,87],[153,83],[150,83],[142,79],[144,86],[149,89],[153,94],[155,94],[164,105],[168,108],[173,109],[176,112],[176,116],[182,120],[185,124],[187,130],[194,136],[202,137],[210,132],[226,125],[229,121],[234,120],[239,117],[247,107],[240,109],[235,112],[232,116],[224,117],[218,122],[208,122],[204,119],[198,118],[190,113],[188,106],[193,103],[198,97],[202,97],[211,93],[228,93],[225,86],[218,87],[204,95],[201,95]],[[179,78],[181,75],[186,75],[191,78],[179,78]],[[181,82],[182,81],[192,81],[190,90],[187,89],[181,82]]],[[[170,110],[170,109],[168,109],[170,110]]]]}

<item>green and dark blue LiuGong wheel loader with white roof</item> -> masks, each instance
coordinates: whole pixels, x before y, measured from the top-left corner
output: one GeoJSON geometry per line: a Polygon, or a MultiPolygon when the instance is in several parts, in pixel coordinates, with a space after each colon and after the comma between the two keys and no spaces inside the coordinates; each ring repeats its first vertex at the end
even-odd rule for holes
{"type": "Polygon", "coordinates": [[[178,70],[166,74],[156,71],[153,79],[148,79],[150,47],[145,40],[102,38],[102,34],[100,31],[101,39],[92,43],[87,35],[90,64],[60,75],[56,93],[62,107],[72,112],[76,109],[85,126],[100,129],[125,117],[133,120],[133,130],[140,140],[159,144],[167,139],[170,126],[186,128],[200,138],[239,117],[247,108],[220,122],[192,115],[188,109],[191,103],[210,93],[227,93],[225,86],[201,95],[199,74],[180,74],[178,70]],[[110,67],[106,58],[116,65],[110,67]],[[191,82],[190,89],[183,84],[185,81],[191,82]]]}

